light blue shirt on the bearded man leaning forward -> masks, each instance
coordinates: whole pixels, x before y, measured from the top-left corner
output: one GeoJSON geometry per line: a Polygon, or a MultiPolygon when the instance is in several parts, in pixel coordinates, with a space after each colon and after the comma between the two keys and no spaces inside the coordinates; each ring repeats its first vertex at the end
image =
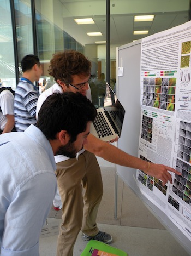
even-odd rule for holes
{"type": "Polygon", "coordinates": [[[39,255],[39,235],[57,190],[56,163],[44,134],[0,135],[1,256],[39,255]]]}

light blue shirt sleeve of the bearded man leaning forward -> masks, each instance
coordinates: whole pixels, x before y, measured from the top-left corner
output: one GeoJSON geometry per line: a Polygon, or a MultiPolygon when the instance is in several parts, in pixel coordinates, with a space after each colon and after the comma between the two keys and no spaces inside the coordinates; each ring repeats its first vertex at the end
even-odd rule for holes
{"type": "Polygon", "coordinates": [[[39,236],[56,194],[54,173],[30,179],[14,193],[4,221],[1,256],[39,255],[39,236]]]}

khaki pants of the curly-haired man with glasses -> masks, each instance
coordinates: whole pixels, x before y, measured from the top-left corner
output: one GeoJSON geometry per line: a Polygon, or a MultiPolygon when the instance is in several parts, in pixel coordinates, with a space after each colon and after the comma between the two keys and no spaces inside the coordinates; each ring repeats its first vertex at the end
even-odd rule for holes
{"type": "Polygon", "coordinates": [[[96,217],[103,195],[102,177],[96,156],[88,151],[78,160],[57,163],[56,175],[63,204],[57,256],[72,256],[81,228],[86,235],[98,233],[96,217]]]}

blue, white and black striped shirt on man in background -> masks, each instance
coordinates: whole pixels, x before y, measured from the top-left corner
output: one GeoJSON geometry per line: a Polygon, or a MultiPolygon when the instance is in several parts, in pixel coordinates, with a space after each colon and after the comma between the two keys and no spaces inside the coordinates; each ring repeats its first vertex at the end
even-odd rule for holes
{"type": "Polygon", "coordinates": [[[17,132],[23,132],[30,124],[36,124],[36,107],[39,97],[36,87],[26,78],[21,81],[15,90],[14,113],[17,132]]]}

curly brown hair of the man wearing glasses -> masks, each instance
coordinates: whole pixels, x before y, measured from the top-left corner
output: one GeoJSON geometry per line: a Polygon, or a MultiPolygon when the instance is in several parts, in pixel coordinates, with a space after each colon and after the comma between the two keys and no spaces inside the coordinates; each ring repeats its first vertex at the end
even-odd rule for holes
{"type": "Polygon", "coordinates": [[[49,75],[61,80],[65,84],[72,82],[72,75],[89,76],[91,73],[91,62],[76,50],[65,50],[53,54],[50,60],[49,75]]]}

